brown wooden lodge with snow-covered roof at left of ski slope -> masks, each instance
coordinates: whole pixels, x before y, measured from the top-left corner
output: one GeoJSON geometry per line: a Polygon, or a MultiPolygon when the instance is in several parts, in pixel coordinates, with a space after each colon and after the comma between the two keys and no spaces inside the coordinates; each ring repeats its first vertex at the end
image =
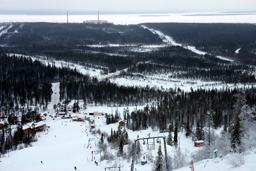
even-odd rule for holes
{"type": "MultiPolygon", "coordinates": [[[[22,125],[22,129],[23,129],[23,133],[27,134],[28,131],[29,133],[33,131],[33,129],[35,130],[35,132],[38,131],[43,131],[44,129],[46,129],[47,125],[45,124],[45,122],[40,121],[40,122],[28,122],[24,125],[22,125]]],[[[18,131],[20,131],[20,126],[17,127],[18,131]]]]}

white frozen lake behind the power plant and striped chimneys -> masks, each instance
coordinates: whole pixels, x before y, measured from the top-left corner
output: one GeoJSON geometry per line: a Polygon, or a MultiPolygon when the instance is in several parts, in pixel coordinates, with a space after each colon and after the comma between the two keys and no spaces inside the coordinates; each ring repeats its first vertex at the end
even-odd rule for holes
{"type": "MultiPolygon", "coordinates": [[[[114,24],[138,24],[144,22],[227,22],[227,23],[256,23],[256,13],[219,13],[189,12],[168,14],[112,14],[101,15],[100,20],[114,22],[114,24]],[[229,15],[227,15],[229,14],[229,15]],[[240,15],[241,14],[241,15],[240,15]],[[186,15],[186,16],[184,16],[186,15]],[[189,16],[194,15],[194,16],[189,16]]],[[[95,15],[69,15],[69,22],[83,22],[97,20],[95,15]]],[[[1,22],[67,22],[66,15],[0,15],[1,22]]]]}

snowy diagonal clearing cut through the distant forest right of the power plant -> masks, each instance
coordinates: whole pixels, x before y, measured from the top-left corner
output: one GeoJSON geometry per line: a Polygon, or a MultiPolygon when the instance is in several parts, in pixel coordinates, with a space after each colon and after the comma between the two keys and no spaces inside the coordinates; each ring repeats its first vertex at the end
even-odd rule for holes
{"type": "MultiPolygon", "coordinates": [[[[194,47],[194,46],[187,46],[187,48],[186,48],[186,47],[184,47],[182,44],[175,42],[172,37],[164,35],[161,31],[154,30],[154,29],[150,29],[150,28],[148,28],[148,27],[146,27],[146,26],[143,26],[143,25],[141,25],[141,27],[150,30],[150,31],[151,31],[152,33],[154,33],[154,34],[158,34],[159,37],[160,37],[161,39],[163,39],[163,41],[166,42],[166,43],[172,44],[172,45],[174,45],[174,46],[183,47],[183,48],[188,49],[188,50],[191,50],[192,52],[195,52],[195,53],[197,53],[197,54],[199,54],[199,55],[205,55],[205,54],[207,54],[206,52],[197,50],[196,47],[194,47]]],[[[220,59],[222,59],[222,60],[226,60],[226,61],[234,61],[234,60],[230,60],[230,59],[228,59],[228,58],[225,58],[225,57],[223,57],[223,56],[216,56],[216,57],[217,57],[217,58],[220,58],[220,59]]]]}

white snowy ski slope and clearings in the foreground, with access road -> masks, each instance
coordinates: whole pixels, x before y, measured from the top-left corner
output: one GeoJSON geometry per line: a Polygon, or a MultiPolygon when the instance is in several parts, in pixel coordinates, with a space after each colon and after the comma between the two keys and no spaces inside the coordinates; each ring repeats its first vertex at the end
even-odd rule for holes
{"type": "MultiPolygon", "coordinates": [[[[52,108],[53,104],[56,104],[59,100],[59,83],[52,84],[53,95],[52,102],[48,105],[50,109],[49,114],[46,116],[45,123],[47,126],[50,126],[48,130],[44,132],[38,132],[36,137],[38,138],[37,142],[34,142],[31,147],[24,148],[22,150],[16,150],[9,152],[8,154],[1,156],[1,170],[37,170],[37,171],[45,171],[45,170],[62,170],[69,171],[74,169],[76,166],[78,170],[104,170],[104,167],[112,166],[114,161],[102,161],[100,162],[100,154],[94,154],[95,160],[91,161],[92,153],[91,151],[98,150],[93,141],[89,141],[90,138],[95,138],[96,143],[99,142],[99,135],[92,135],[90,132],[86,131],[86,126],[89,126],[88,121],[83,122],[72,122],[70,119],[60,119],[57,117],[55,120],[49,115],[54,115],[54,109],[52,108]],[[56,94],[55,94],[56,93],[56,94]],[[88,136],[87,136],[88,133],[88,136]],[[40,136],[39,136],[40,135],[40,136]],[[90,143],[91,148],[87,149],[87,145],[90,143]],[[43,162],[41,164],[41,161],[43,162]],[[98,162],[98,166],[94,164],[94,161],[98,162]]],[[[73,102],[73,100],[72,100],[73,102]]],[[[71,103],[72,103],[71,102],[71,103]]],[[[144,106],[137,106],[137,109],[142,109],[144,106]]],[[[126,108],[126,107],[125,107],[126,108]]],[[[128,107],[130,112],[135,109],[134,106],[128,107]]],[[[113,108],[113,112],[115,112],[116,108],[113,108]]],[[[120,113],[123,111],[123,107],[119,107],[118,110],[120,113]]],[[[105,113],[111,113],[111,107],[88,107],[86,110],[82,110],[81,114],[77,113],[78,116],[84,116],[83,112],[92,112],[92,111],[104,111],[105,113]]],[[[122,116],[122,115],[121,115],[122,116]]],[[[91,117],[91,116],[90,116],[91,117]]],[[[104,116],[95,117],[95,127],[96,129],[100,129],[101,131],[105,131],[110,133],[111,128],[113,130],[117,130],[118,123],[106,125],[106,118],[104,116]]],[[[88,129],[88,128],[87,128],[88,129]]],[[[89,129],[88,129],[89,130],[89,129]]],[[[151,137],[153,136],[167,136],[167,133],[159,133],[158,131],[153,131],[151,128],[147,130],[140,131],[131,131],[127,130],[129,139],[133,141],[137,137],[137,135],[142,137],[147,137],[147,134],[150,133],[151,137]]],[[[219,134],[220,129],[215,131],[219,134]]],[[[198,150],[198,148],[193,147],[193,141],[191,138],[186,138],[184,133],[178,133],[180,136],[180,150],[185,151],[189,150],[189,153],[198,150]]],[[[162,150],[164,150],[163,140],[161,140],[162,150]]],[[[104,140],[106,142],[106,140],[104,140]]],[[[153,140],[149,141],[152,142],[153,140]]],[[[141,144],[141,152],[142,154],[148,153],[146,149],[146,145],[141,144]]],[[[109,144],[111,145],[111,144],[109,144]]],[[[151,150],[153,156],[156,156],[157,149],[159,144],[155,142],[155,150],[151,150]]],[[[109,150],[110,150],[109,146],[109,150]]],[[[124,147],[125,148],[125,147],[124,147]]],[[[166,146],[166,150],[169,154],[173,154],[173,150],[175,147],[171,147],[169,145],[166,146]]],[[[110,153],[114,156],[116,150],[111,149],[110,153]]],[[[104,155],[103,153],[101,155],[104,155]]],[[[143,157],[143,156],[142,156],[143,157]]],[[[142,160],[141,157],[141,160],[142,160]]],[[[155,158],[155,157],[153,157],[155,158]]],[[[195,163],[194,167],[196,170],[208,171],[211,169],[217,168],[219,171],[226,170],[254,170],[254,161],[256,159],[256,154],[251,153],[249,158],[247,159],[244,166],[240,168],[230,169],[230,165],[226,163],[226,161],[221,161],[219,163],[211,163],[208,162],[206,167],[204,167],[206,160],[195,163]]],[[[169,161],[171,162],[171,161],[169,161]]],[[[117,165],[121,165],[121,169],[123,171],[128,171],[131,169],[131,161],[127,162],[126,160],[116,157],[117,165]]],[[[154,167],[153,163],[148,162],[146,165],[140,165],[140,163],[135,164],[134,168],[140,171],[148,171],[152,170],[154,167]]],[[[135,169],[134,169],[135,170],[135,169]]],[[[189,170],[189,167],[183,167],[178,169],[180,171],[189,170]]]]}

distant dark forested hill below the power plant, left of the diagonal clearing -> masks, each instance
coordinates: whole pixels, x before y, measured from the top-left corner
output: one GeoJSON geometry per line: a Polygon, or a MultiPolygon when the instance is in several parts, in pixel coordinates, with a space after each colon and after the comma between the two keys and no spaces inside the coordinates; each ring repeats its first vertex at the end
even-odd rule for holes
{"type": "MultiPolygon", "coordinates": [[[[14,24],[16,26],[18,24],[14,24]]],[[[15,27],[16,28],[16,27],[15,27]]],[[[151,31],[137,25],[84,24],[26,22],[18,28],[18,34],[3,34],[0,44],[8,45],[56,45],[59,48],[86,44],[106,43],[162,43],[162,39],[151,31]]]]}

